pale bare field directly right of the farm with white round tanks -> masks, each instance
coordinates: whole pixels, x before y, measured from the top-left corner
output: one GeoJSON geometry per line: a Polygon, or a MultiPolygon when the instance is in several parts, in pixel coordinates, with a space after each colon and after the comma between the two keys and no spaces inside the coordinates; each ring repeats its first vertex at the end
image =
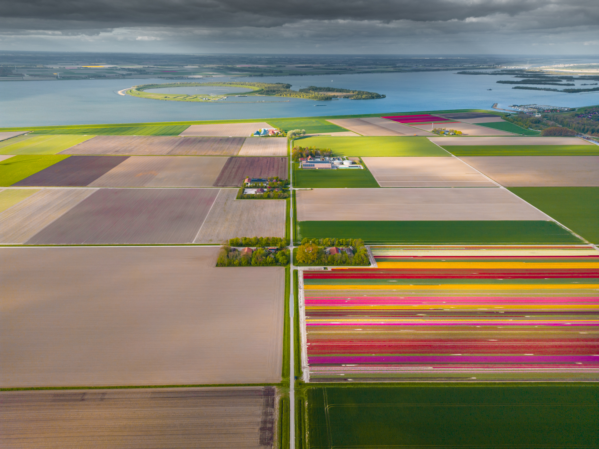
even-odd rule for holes
{"type": "Polygon", "coordinates": [[[496,187],[457,157],[362,157],[381,187],[496,187]]]}

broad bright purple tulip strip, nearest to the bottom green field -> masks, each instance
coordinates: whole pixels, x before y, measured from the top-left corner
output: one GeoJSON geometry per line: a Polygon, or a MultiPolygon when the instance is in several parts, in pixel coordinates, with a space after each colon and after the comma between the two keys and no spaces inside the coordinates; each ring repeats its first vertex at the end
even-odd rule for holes
{"type": "Polygon", "coordinates": [[[599,366],[599,355],[556,355],[556,356],[311,356],[308,365],[563,365],[565,363],[584,363],[599,366]]]}

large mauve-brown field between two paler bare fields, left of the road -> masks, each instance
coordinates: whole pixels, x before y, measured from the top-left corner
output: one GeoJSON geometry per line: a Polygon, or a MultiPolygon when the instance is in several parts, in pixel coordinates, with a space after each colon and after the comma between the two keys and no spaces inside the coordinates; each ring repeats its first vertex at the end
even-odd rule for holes
{"type": "Polygon", "coordinates": [[[101,189],[25,244],[190,243],[218,192],[219,189],[101,189]]]}

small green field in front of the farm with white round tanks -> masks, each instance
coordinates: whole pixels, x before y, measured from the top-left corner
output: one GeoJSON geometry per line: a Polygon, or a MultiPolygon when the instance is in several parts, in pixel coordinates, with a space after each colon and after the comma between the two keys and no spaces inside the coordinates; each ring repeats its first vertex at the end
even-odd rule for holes
{"type": "Polygon", "coordinates": [[[293,166],[294,187],[311,187],[313,189],[379,187],[379,183],[367,169],[304,170],[298,168],[298,163],[294,163],[293,166]]]}

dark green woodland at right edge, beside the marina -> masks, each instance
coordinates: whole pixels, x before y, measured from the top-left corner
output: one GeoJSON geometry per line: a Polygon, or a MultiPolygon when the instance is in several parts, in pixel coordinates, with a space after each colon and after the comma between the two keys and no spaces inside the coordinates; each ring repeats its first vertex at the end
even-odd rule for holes
{"type": "MultiPolygon", "coordinates": [[[[562,133],[567,132],[565,129],[570,129],[580,134],[599,135],[599,107],[597,106],[578,108],[565,113],[541,113],[540,117],[519,113],[503,116],[503,119],[518,126],[541,131],[547,128],[564,128],[562,133]]],[[[548,133],[541,135],[571,135],[559,134],[556,129],[548,133]]]]}

